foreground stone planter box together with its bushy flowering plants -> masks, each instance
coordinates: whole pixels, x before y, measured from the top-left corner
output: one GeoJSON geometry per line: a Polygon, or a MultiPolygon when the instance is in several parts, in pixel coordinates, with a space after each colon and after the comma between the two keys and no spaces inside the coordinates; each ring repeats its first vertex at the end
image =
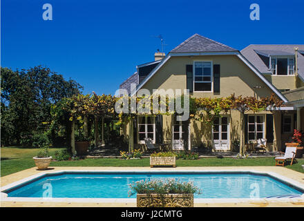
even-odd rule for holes
{"type": "Polygon", "coordinates": [[[193,182],[175,179],[140,180],[129,186],[129,196],[137,193],[137,207],[193,207],[193,194],[202,193],[193,182]]]}

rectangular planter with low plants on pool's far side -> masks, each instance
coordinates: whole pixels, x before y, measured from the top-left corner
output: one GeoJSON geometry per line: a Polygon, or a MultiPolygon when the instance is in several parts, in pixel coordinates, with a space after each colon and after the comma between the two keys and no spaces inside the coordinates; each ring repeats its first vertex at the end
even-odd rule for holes
{"type": "Polygon", "coordinates": [[[150,166],[173,166],[175,167],[176,154],[169,152],[152,153],[150,155],[150,166]]]}

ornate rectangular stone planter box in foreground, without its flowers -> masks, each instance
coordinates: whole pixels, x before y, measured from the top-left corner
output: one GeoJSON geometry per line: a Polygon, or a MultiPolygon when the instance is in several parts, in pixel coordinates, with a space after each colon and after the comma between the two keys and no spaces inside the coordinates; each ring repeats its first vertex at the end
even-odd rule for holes
{"type": "Polygon", "coordinates": [[[138,194],[137,207],[193,207],[193,193],[189,194],[138,194]]]}

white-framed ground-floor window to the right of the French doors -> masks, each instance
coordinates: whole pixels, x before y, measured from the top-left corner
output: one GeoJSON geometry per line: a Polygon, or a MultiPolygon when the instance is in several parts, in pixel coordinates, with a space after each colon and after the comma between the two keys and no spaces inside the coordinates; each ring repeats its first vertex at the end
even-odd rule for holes
{"type": "Polygon", "coordinates": [[[248,115],[248,140],[265,138],[265,117],[263,115],[248,115]]]}

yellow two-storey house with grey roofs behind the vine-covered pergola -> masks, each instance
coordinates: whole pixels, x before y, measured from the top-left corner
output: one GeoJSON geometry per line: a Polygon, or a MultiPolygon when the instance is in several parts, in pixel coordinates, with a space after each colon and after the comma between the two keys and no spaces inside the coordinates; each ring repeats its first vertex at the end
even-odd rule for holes
{"type": "MultiPolygon", "coordinates": [[[[135,84],[133,89],[128,90],[130,95],[136,94],[142,88],[149,90],[151,94],[153,89],[189,89],[190,96],[193,97],[228,97],[235,93],[244,97],[260,98],[274,93],[287,106],[277,108],[276,111],[246,113],[245,142],[265,138],[269,151],[280,151],[296,127],[296,122],[300,120],[304,128],[304,108],[300,109],[303,103],[298,99],[301,87],[304,86],[303,69],[300,68],[304,62],[300,49],[298,75],[301,77],[298,77],[294,74],[295,66],[292,66],[292,62],[295,58],[290,47],[288,50],[280,48],[281,52],[276,53],[274,48],[263,50],[263,46],[258,46],[257,49],[248,46],[240,52],[196,34],[173,48],[166,56],[157,52],[154,61],[138,65],[137,71],[120,88],[135,84]],[[283,55],[286,55],[287,61],[282,59],[283,55]],[[283,75],[286,62],[288,72],[283,75]],[[295,76],[298,77],[296,81],[295,76]],[[284,84],[287,80],[279,77],[287,77],[288,84],[284,84]],[[300,91],[293,92],[294,90],[300,91]],[[289,100],[288,97],[294,97],[294,100],[289,100]],[[296,119],[297,114],[302,117],[296,119]]],[[[298,123],[297,127],[300,126],[298,123]]],[[[151,137],[154,143],[167,143],[173,149],[205,146],[211,147],[213,151],[231,151],[234,148],[233,143],[240,139],[240,113],[231,110],[216,118],[213,126],[194,119],[186,124],[168,115],[137,115],[135,122],[122,128],[122,134],[126,138],[132,138],[135,148],[144,144],[145,137],[151,137]]]]}

